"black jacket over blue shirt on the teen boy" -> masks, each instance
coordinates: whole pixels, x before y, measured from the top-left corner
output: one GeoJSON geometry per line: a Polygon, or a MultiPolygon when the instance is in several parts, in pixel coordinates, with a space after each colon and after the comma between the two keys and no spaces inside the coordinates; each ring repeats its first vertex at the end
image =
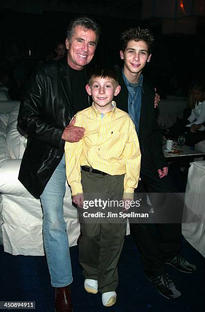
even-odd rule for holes
{"type": "MultiPolygon", "coordinates": [[[[115,97],[116,105],[119,109],[128,113],[129,93],[124,83],[121,69],[118,72],[118,81],[121,90],[115,97]]],[[[145,77],[143,77],[143,91],[138,135],[141,159],[142,163],[156,171],[167,166],[167,162],[162,151],[162,135],[155,117],[155,89],[145,77]]]]}

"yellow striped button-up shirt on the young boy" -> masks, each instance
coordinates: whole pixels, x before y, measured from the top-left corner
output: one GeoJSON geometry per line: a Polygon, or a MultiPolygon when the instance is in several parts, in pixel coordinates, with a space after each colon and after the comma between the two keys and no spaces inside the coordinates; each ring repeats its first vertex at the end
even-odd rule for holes
{"type": "Polygon", "coordinates": [[[75,115],[74,125],[84,127],[85,133],[79,142],[65,142],[66,176],[72,195],[83,193],[81,166],[110,175],[125,174],[123,197],[137,188],[141,153],[135,125],[112,103],[112,111],[103,118],[94,105],[75,115]]]}

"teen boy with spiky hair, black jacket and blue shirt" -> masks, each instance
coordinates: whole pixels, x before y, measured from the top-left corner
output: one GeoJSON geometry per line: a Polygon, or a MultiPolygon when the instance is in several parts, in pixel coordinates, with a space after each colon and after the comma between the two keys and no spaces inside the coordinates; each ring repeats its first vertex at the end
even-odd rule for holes
{"type": "MultiPolygon", "coordinates": [[[[137,191],[143,192],[146,189],[150,193],[171,193],[175,190],[167,176],[162,136],[153,107],[155,90],[142,75],[143,68],[151,59],[153,41],[154,38],[147,29],[131,28],[122,33],[120,58],[124,61],[124,66],[118,75],[121,91],[116,101],[118,108],[131,116],[139,138],[142,159],[141,180],[137,191]]],[[[156,205],[154,210],[158,209],[156,205]]],[[[180,296],[181,293],[165,272],[165,264],[187,273],[196,269],[180,255],[181,224],[133,223],[131,229],[140,249],[147,277],[165,297],[180,296]]]]}

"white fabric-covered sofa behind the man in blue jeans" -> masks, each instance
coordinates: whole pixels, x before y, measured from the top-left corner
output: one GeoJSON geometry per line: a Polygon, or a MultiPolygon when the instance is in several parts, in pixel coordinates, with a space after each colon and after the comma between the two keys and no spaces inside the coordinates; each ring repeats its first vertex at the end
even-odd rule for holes
{"type": "MultiPolygon", "coordinates": [[[[16,103],[10,104],[10,107],[14,106],[11,113],[0,113],[0,243],[6,252],[14,255],[43,255],[40,200],[34,198],[18,180],[26,140],[16,128],[19,102],[17,106],[16,103]]],[[[69,245],[76,245],[80,224],[67,184],[64,219],[69,245]]]]}

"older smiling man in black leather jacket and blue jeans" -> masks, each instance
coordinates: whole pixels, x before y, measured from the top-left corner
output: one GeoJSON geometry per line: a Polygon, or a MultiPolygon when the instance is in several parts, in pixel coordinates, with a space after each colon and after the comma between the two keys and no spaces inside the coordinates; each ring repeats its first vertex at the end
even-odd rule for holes
{"type": "Polygon", "coordinates": [[[18,123],[29,135],[19,171],[19,180],[41,200],[43,241],[56,312],[72,311],[72,271],[66,223],[64,144],[78,142],[84,128],[73,126],[72,116],[89,106],[85,66],[92,60],[99,36],[90,18],[69,24],[67,59],[41,67],[31,78],[21,101],[18,123]],[[70,123],[70,124],[69,124],[70,123]]]}

